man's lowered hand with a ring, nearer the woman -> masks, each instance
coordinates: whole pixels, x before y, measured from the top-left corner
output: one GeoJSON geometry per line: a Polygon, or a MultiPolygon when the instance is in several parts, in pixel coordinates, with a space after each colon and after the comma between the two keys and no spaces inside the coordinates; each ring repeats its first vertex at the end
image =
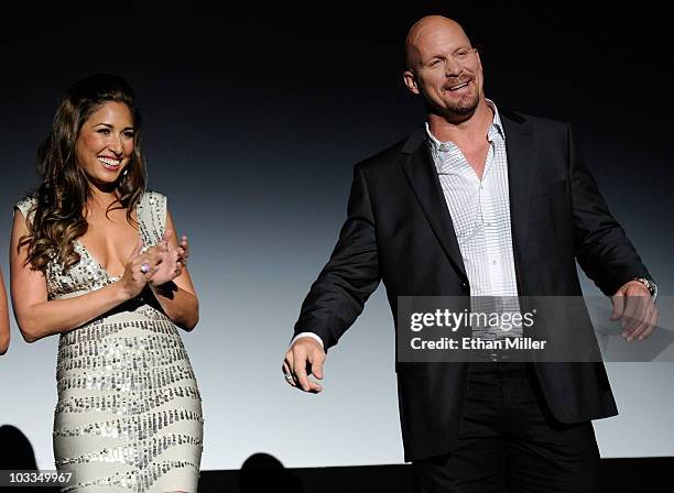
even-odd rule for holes
{"type": "Polygon", "coordinates": [[[314,375],[323,380],[323,363],[325,351],[320,342],[311,337],[301,337],[290,347],[283,360],[285,381],[304,392],[317,394],[323,385],[309,379],[314,375]]]}

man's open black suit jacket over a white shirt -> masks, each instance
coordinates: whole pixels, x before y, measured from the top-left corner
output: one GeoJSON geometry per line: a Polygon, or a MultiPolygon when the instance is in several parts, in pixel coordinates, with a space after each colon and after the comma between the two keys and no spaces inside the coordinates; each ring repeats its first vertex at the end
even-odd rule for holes
{"type": "MultiPolygon", "coordinates": [[[[567,123],[500,112],[521,296],[578,296],[576,260],[606,294],[650,277],[574,145],[567,123]]],[[[452,218],[422,127],[356,165],[348,217],[329,262],[306,296],[295,335],[335,346],[383,281],[393,317],[399,296],[469,295],[452,218]]],[[[601,363],[534,363],[561,423],[616,415],[601,363]]],[[[447,453],[458,431],[467,363],[396,364],[405,460],[447,453]]]]}

